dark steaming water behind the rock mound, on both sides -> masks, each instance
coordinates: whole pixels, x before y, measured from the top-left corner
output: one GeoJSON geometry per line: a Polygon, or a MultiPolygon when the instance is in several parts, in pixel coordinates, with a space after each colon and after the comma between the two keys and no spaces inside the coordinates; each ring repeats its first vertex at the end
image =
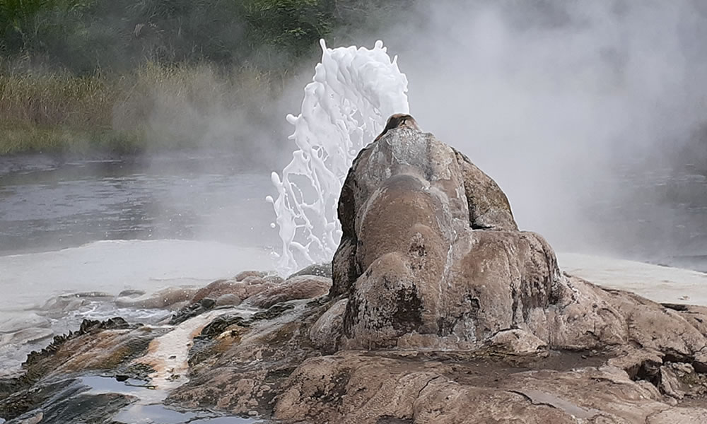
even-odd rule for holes
{"type": "MultiPolygon", "coordinates": [[[[96,240],[276,246],[277,232],[269,227],[274,212],[264,201],[274,192],[269,172],[245,171],[236,163],[220,153],[70,163],[0,158],[0,254],[96,240]]],[[[528,215],[557,217],[530,222],[527,229],[560,251],[707,271],[707,177],[689,169],[646,168],[629,164],[603,180],[573,182],[574,196],[555,203],[510,200],[528,215]],[[568,204],[574,207],[563,216],[568,204]]],[[[525,216],[517,218],[520,223],[525,216]]]]}

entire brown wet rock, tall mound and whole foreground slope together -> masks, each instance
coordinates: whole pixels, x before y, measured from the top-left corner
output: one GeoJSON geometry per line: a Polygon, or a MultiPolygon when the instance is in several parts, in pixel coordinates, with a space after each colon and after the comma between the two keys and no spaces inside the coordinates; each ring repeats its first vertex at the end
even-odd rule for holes
{"type": "Polygon", "coordinates": [[[123,293],[170,317],[55,338],[0,380],[0,417],[110,422],[166,405],[244,422],[707,422],[707,308],[561,273],[498,185],[431,134],[391,129],[364,149],[339,218],[331,278],[317,265],[123,293]],[[86,375],[150,389],[86,391],[86,375]]]}

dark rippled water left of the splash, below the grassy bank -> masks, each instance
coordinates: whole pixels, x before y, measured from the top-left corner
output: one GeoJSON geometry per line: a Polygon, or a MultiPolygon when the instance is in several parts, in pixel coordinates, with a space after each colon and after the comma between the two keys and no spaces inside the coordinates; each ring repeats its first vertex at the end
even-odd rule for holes
{"type": "Polygon", "coordinates": [[[174,154],[59,163],[0,158],[0,254],[96,240],[277,240],[268,172],[234,158],[174,154]]]}

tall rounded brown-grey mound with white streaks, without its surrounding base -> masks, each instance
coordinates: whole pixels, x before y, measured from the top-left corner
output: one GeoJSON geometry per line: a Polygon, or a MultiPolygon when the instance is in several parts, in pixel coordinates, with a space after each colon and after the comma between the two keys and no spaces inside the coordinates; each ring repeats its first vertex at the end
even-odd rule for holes
{"type": "Polygon", "coordinates": [[[474,349],[508,329],[593,346],[567,325],[578,312],[602,329],[600,343],[621,341],[622,317],[599,298],[580,305],[547,242],[518,231],[498,184],[432,134],[393,129],[361,151],[339,218],[330,295],[349,300],[339,348],[474,349]]]}

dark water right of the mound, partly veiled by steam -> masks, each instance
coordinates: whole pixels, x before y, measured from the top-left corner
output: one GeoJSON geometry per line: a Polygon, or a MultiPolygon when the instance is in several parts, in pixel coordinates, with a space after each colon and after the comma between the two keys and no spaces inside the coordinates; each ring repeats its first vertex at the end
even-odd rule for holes
{"type": "Polygon", "coordinates": [[[627,259],[707,272],[706,175],[626,166],[612,178],[583,199],[597,245],[627,259]]]}

